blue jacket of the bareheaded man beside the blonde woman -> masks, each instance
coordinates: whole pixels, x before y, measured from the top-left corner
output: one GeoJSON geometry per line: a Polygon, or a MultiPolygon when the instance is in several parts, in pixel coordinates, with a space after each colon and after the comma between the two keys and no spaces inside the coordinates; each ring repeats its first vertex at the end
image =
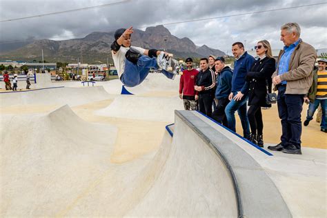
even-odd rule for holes
{"type": "Polygon", "coordinates": [[[246,74],[250,70],[254,61],[254,57],[248,54],[248,52],[244,52],[244,54],[234,62],[234,72],[232,74],[232,92],[241,91],[244,95],[248,93],[246,74]]]}

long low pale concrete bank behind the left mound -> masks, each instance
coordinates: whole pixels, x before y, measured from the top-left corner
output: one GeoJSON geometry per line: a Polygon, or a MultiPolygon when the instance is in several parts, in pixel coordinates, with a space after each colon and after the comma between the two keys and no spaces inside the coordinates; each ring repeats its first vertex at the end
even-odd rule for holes
{"type": "Polygon", "coordinates": [[[68,104],[77,106],[83,103],[110,99],[102,86],[87,88],[54,87],[22,92],[1,92],[1,106],[22,106],[42,104],[68,104]]]}

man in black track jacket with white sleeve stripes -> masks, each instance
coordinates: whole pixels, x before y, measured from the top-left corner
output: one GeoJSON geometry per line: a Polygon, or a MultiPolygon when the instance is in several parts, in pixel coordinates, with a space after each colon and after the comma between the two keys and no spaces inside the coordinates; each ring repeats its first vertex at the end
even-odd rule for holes
{"type": "Polygon", "coordinates": [[[213,88],[215,88],[215,72],[210,70],[206,57],[200,60],[200,72],[197,75],[195,90],[199,92],[199,111],[208,117],[212,115],[213,88]]]}

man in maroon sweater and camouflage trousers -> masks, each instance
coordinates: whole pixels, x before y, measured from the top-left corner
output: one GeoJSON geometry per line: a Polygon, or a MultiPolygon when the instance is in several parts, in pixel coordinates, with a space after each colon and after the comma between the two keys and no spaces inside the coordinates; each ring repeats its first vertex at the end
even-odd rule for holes
{"type": "Polygon", "coordinates": [[[197,110],[197,99],[199,96],[194,86],[199,71],[193,69],[193,60],[190,57],[185,62],[187,69],[183,71],[179,81],[179,97],[184,101],[185,110],[197,110]]]}

